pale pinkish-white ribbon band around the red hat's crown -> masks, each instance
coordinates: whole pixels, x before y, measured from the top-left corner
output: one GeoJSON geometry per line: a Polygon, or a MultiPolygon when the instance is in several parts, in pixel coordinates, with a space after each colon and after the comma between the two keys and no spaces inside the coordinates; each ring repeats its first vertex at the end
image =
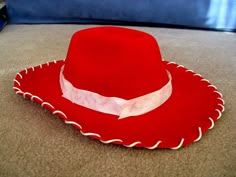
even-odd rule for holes
{"type": "Polygon", "coordinates": [[[118,97],[106,97],[88,90],[75,88],[63,75],[64,66],[60,72],[60,86],[62,96],[72,103],[119,116],[119,119],[138,116],[150,112],[165,103],[172,93],[171,74],[167,71],[169,81],[161,89],[125,100],[118,97]]]}

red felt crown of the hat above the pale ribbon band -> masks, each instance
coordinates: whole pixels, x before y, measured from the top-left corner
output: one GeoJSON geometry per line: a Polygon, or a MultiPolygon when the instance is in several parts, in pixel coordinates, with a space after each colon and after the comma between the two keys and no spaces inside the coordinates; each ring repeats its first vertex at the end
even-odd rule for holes
{"type": "Polygon", "coordinates": [[[123,99],[156,91],[168,82],[155,38],[122,27],[76,32],[63,74],[76,88],[123,99]]]}

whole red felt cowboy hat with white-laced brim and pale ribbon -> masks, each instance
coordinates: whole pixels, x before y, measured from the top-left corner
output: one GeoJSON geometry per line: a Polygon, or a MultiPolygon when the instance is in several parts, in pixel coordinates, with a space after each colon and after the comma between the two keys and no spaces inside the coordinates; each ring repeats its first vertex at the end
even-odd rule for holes
{"type": "Polygon", "coordinates": [[[83,135],[127,147],[184,147],[224,111],[208,80],[163,61],[151,35],[121,27],[76,32],[65,60],[17,73],[13,89],[83,135]]]}

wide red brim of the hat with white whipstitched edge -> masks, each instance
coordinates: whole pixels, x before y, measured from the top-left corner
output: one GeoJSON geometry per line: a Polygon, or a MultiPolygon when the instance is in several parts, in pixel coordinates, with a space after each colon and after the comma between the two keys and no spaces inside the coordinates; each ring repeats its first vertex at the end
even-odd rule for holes
{"type": "Polygon", "coordinates": [[[126,119],[118,120],[118,116],[93,111],[63,98],[59,84],[63,60],[17,73],[13,89],[72,124],[83,135],[103,143],[178,149],[200,140],[213,128],[224,111],[224,100],[201,75],[174,62],[163,63],[172,76],[171,97],[151,112],[126,119]]]}

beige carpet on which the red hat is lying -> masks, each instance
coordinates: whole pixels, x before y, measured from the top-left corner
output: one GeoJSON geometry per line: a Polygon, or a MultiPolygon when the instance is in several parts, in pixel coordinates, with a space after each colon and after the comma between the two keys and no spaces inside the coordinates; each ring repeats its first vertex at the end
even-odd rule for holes
{"type": "Polygon", "coordinates": [[[225,112],[179,150],[104,145],[17,96],[15,74],[64,59],[71,35],[92,25],[9,25],[0,33],[0,176],[236,176],[236,34],[133,27],[153,34],[163,58],[200,73],[224,95],[225,112]]]}

